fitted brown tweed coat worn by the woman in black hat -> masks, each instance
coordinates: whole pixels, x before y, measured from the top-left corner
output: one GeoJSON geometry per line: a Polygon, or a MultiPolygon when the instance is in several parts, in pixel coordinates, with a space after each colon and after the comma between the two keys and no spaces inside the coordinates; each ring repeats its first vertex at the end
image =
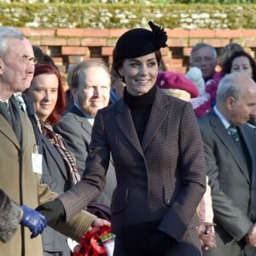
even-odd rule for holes
{"type": "Polygon", "coordinates": [[[98,111],[90,148],[82,183],[60,197],[67,218],[102,190],[111,152],[117,177],[111,207],[114,255],[136,255],[132,252],[155,228],[154,221],[179,242],[166,255],[201,255],[195,211],[206,187],[205,158],[189,102],[157,90],[141,145],[121,99],[98,111]]]}

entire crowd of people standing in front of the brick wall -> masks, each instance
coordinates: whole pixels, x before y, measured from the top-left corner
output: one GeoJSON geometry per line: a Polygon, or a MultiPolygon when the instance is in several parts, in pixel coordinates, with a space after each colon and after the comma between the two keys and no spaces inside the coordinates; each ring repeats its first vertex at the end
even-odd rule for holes
{"type": "Polygon", "coordinates": [[[71,256],[93,227],[114,256],[256,255],[256,62],[199,43],[166,70],[166,31],[122,34],[111,70],[67,71],[0,27],[0,254],[71,256]]]}

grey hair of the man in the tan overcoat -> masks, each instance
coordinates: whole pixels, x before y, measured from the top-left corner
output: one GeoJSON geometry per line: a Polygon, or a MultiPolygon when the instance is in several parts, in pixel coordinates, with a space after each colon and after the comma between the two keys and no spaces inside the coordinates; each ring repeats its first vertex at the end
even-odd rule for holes
{"type": "Polygon", "coordinates": [[[23,40],[24,34],[13,26],[0,26],[0,56],[3,57],[8,49],[8,40],[17,38],[23,40]]]}

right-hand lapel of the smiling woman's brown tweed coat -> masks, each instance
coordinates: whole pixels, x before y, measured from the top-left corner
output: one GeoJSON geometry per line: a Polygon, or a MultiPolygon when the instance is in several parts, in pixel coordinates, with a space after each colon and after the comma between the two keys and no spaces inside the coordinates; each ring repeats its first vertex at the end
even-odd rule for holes
{"type": "Polygon", "coordinates": [[[166,119],[167,111],[165,106],[167,104],[165,97],[160,96],[159,90],[157,90],[157,94],[155,96],[155,101],[151,109],[151,113],[148,119],[148,125],[143,137],[143,152],[148,147],[148,144],[154,138],[155,133],[159,130],[163,121],[166,119]]]}

